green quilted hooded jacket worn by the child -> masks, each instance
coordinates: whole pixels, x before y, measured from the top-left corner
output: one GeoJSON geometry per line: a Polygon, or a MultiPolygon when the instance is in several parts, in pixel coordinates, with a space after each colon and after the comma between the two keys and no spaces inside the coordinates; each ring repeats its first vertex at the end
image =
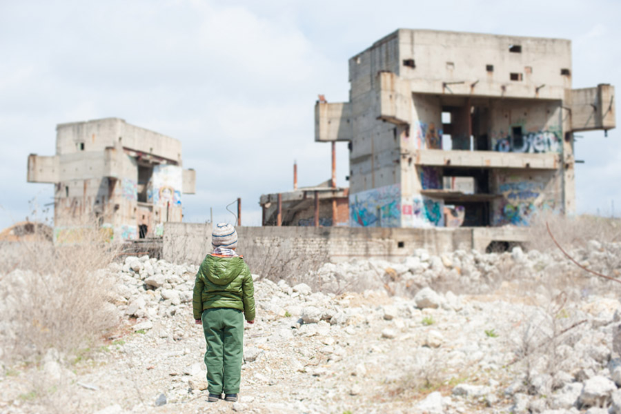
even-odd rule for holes
{"type": "Polygon", "coordinates": [[[205,309],[233,308],[255,320],[255,287],[250,269],[241,256],[206,255],[194,282],[194,319],[205,309]]]}

